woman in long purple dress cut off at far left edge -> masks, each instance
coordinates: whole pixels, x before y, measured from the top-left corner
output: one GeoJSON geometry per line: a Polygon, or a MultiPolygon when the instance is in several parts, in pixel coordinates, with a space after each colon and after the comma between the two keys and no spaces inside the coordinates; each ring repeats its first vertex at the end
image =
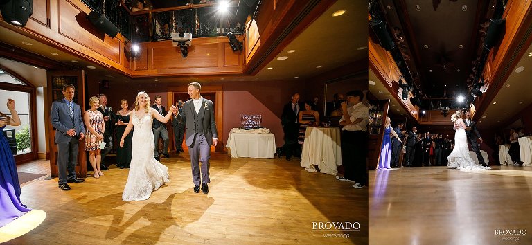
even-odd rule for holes
{"type": "Polygon", "coordinates": [[[8,99],[11,117],[0,112],[0,227],[21,217],[30,209],[20,203],[20,183],[17,175],[15,158],[9,147],[3,129],[6,125],[20,125],[20,118],[15,111],[15,100],[8,99]]]}

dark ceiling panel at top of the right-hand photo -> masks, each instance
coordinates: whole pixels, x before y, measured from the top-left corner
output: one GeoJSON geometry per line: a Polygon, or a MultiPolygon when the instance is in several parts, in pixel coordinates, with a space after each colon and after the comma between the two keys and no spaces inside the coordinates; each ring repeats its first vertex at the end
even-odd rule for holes
{"type": "MultiPolygon", "coordinates": [[[[468,92],[494,0],[381,0],[416,90],[431,98],[468,92]]],[[[405,74],[403,74],[405,75],[405,74]]]]}

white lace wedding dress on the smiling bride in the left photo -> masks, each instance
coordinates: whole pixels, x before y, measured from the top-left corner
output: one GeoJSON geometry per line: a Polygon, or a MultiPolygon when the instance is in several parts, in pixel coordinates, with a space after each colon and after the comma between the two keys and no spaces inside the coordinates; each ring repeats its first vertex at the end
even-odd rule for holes
{"type": "Polygon", "coordinates": [[[141,201],[150,198],[154,190],[157,190],[170,182],[168,167],[155,160],[153,151],[152,123],[153,112],[150,108],[148,114],[139,118],[133,111],[133,138],[130,174],[127,176],[122,199],[124,201],[141,201]]]}

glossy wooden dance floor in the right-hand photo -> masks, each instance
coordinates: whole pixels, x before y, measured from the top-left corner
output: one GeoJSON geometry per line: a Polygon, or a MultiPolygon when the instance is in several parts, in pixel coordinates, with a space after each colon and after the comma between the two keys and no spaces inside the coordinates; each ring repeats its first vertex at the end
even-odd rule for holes
{"type": "Polygon", "coordinates": [[[409,167],[369,178],[370,244],[532,244],[532,167],[409,167]]]}

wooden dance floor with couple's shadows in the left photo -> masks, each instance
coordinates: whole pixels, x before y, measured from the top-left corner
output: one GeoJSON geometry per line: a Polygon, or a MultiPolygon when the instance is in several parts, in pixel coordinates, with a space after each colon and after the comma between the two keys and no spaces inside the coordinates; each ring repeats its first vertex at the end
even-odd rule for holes
{"type": "MultiPolygon", "coordinates": [[[[70,191],[57,188],[57,178],[26,183],[23,203],[46,212],[46,219],[8,244],[368,243],[367,188],[308,173],[299,158],[231,158],[215,153],[210,192],[196,194],[188,152],[171,156],[161,161],[169,168],[171,182],[147,201],[122,201],[128,170],[115,165],[100,179],[69,184],[70,191]],[[360,222],[360,230],[312,226],[346,221],[360,222]],[[348,237],[334,237],[339,233],[348,237]]],[[[40,162],[32,164],[46,168],[48,161],[40,162]]]]}

